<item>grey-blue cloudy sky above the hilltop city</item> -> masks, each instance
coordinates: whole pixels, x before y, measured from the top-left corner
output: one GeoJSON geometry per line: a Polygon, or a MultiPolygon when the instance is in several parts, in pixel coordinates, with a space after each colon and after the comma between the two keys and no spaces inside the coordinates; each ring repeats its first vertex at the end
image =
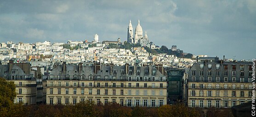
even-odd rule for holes
{"type": "Polygon", "coordinates": [[[125,41],[130,19],[156,45],[256,57],[256,0],[1,0],[0,42],[125,41]]]}

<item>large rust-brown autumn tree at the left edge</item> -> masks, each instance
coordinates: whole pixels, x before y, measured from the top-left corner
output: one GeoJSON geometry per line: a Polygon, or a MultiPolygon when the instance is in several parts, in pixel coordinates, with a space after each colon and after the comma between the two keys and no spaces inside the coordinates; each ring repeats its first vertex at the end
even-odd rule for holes
{"type": "Polygon", "coordinates": [[[9,111],[14,106],[13,100],[16,97],[15,84],[12,81],[6,81],[0,78],[0,115],[2,117],[8,116],[9,111]]]}

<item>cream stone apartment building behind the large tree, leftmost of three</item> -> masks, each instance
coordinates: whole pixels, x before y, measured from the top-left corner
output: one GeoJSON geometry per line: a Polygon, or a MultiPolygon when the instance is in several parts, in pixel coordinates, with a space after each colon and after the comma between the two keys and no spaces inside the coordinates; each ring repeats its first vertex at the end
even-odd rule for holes
{"type": "Polygon", "coordinates": [[[0,78],[14,82],[17,93],[15,103],[23,102],[26,105],[37,103],[37,92],[42,89],[37,89],[38,71],[31,70],[29,63],[14,63],[10,60],[7,65],[0,65],[0,78]]]}

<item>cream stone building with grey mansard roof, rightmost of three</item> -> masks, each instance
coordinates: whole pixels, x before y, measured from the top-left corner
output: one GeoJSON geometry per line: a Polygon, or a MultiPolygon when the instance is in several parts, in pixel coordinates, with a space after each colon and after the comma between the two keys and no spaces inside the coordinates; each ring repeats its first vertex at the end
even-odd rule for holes
{"type": "Polygon", "coordinates": [[[232,107],[250,101],[252,62],[199,57],[188,75],[188,106],[232,107]]]}

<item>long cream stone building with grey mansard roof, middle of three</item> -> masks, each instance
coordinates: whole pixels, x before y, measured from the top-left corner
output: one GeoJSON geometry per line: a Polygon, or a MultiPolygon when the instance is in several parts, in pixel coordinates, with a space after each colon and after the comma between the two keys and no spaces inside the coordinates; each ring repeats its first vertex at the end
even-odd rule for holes
{"type": "Polygon", "coordinates": [[[117,102],[123,106],[166,104],[166,77],[153,66],[66,65],[53,69],[47,80],[46,103],[97,104],[117,102]]]}

